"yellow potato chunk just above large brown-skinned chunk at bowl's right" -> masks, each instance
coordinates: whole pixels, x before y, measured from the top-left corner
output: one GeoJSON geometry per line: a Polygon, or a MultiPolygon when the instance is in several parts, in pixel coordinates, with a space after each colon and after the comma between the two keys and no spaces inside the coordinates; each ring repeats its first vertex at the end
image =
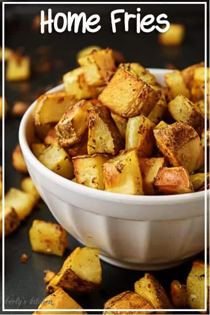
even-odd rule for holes
{"type": "Polygon", "coordinates": [[[201,134],[204,128],[204,115],[200,108],[185,96],[177,95],[168,104],[168,110],[176,122],[187,123],[201,134]]]}

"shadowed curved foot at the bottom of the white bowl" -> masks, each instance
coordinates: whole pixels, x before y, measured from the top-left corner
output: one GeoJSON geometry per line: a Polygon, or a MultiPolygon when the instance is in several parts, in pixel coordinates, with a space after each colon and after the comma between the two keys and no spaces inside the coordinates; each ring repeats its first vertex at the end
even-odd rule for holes
{"type": "Polygon", "coordinates": [[[167,262],[167,263],[133,263],[133,262],[119,261],[117,259],[113,259],[111,257],[107,257],[102,254],[100,254],[99,256],[104,262],[108,262],[114,266],[125,268],[125,269],[141,270],[141,271],[162,270],[162,269],[173,268],[192,259],[191,257],[191,258],[186,258],[180,261],[167,262]]]}

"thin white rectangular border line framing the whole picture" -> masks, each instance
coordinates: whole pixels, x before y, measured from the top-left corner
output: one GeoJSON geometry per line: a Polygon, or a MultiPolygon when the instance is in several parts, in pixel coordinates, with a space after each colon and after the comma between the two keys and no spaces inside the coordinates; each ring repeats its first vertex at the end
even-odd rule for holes
{"type": "MultiPolygon", "coordinates": [[[[5,282],[4,282],[4,254],[5,254],[5,247],[4,247],[4,75],[5,75],[5,68],[4,68],[4,4],[202,4],[204,5],[205,13],[204,13],[204,25],[205,25],[205,43],[204,43],[204,50],[205,50],[205,130],[207,130],[207,1],[204,2],[180,2],[180,1],[173,1],[173,2],[2,2],[2,191],[3,191],[3,198],[2,198],[2,311],[3,312],[35,312],[38,309],[5,309],[5,282]]],[[[207,132],[205,133],[205,174],[207,173],[207,132]]],[[[201,312],[207,311],[207,178],[205,176],[205,309],[152,309],[152,310],[144,310],[144,309],[119,309],[115,311],[121,312],[157,312],[157,311],[167,311],[167,312],[201,312]]],[[[41,310],[42,312],[49,312],[49,310],[41,310]]],[[[71,312],[81,312],[81,309],[55,309],[50,310],[51,312],[64,312],[64,311],[71,311],[71,312]]],[[[84,309],[83,311],[86,312],[103,312],[104,309],[84,309]]],[[[112,310],[106,310],[112,311],[112,310]]],[[[168,314],[168,313],[167,313],[168,314]]]]}

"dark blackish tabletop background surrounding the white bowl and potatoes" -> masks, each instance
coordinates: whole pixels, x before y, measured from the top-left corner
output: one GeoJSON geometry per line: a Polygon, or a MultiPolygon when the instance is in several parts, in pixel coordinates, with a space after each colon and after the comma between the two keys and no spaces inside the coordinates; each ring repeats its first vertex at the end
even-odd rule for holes
{"type": "MultiPolygon", "coordinates": [[[[31,103],[38,95],[50,86],[56,86],[62,75],[76,67],[76,53],[88,46],[97,44],[111,47],[123,52],[126,61],[140,62],[145,67],[165,68],[172,63],[178,69],[204,60],[204,6],[203,5],[5,5],[5,46],[30,55],[32,58],[32,77],[27,82],[5,84],[5,95],[9,107],[15,101],[31,103]],[[117,33],[110,28],[110,12],[115,8],[124,8],[129,13],[136,13],[141,8],[142,15],[166,13],[170,22],[183,23],[186,26],[186,38],[180,47],[163,47],[157,43],[157,32],[136,34],[135,25],[131,24],[129,32],[117,24],[117,33]],[[41,35],[32,29],[32,20],[41,9],[51,7],[53,12],[81,12],[101,16],[102,29],[95,34],[62,33],[41,35]],[[49,51],[43,51],[47,46],[49,51]],[[50,71],[38,73],[42,62],[50,62],[50,71]]],[[[24,177],[11,164],[12,151],[18,143],[18,126],[20,119],[8,115],[5,123],[5,191],[10,187],[20,187],[24,177]]],[[[28,231],[34,219],[55,222],[51,212],[40,202],[33,214],[27,218],[5,242],[5,307],[36,308],[37,299],[46,296],[43,281],[43,270],[57,272],[64,258],[33,253],[28,238],[28,231]],[[30,255],[26,264],[20,262],[22,253],[30,255]],[[9,304],[10,303],[12,304],[9,304]],[[19,304],[20,303],[20,304],[19,304]]],[[[78,242],[69,235],[70,253],[78,242]]],[[[126,248],[125,248],[126,250],[126,248]]],[[[125,290],[133,290],[136,280],[144,272],[131,271],[111,266],[102,262],[103,285],[101,290],[90,295],[75,297],[84,308],[103,308],[103,303],[125,290]]],[[[178,279],[183,283],[191,268],[191,262],[170,270],[154,272],[157,279],[168,289],[171,280],[178,279]]],[[[31,312],[32,313],[32,312],[31,312]]],[[[14,314],[10,312],[9,314],[14,314]]],[[[25,313],[25,314],[30,314],[25,313]]],[[[95,313],[99,314],[99,313],[95,313]]],[[[189,314],[193,314],[190,312],[189,314]]]]}

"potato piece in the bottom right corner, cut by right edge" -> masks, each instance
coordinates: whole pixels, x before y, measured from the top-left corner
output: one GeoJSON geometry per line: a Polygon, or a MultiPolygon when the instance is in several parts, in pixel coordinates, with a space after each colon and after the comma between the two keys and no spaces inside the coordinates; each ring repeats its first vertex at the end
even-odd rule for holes
{"type": "MultiPolygon", "coordinates": [[[[207,310],[209,310],[209,264],[207,264],[207,310]]],[[[191,272],[187,278],[187,302],[192,309],[205,308],[205,264],[196,260],[192,263],[191,272]]],[[[202,312],[202,314],[209,314],[202,312]]]]}

